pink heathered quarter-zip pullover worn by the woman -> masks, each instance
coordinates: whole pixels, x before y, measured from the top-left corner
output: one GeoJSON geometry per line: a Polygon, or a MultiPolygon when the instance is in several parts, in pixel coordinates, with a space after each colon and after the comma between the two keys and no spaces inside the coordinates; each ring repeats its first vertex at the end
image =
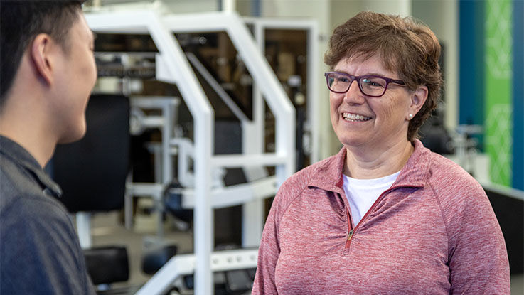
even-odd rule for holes
{"type": "Polygon", "coordinates": [[[285,181],[252,294],[510,294],[506,245],[483,188],[414,144],[358,225],[343,190],[346,149],[285,181]]]}

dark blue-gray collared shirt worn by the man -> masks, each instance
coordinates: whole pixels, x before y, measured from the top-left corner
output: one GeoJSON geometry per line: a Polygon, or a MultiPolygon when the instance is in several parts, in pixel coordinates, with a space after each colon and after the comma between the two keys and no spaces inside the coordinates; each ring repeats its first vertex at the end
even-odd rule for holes
{"type": "Polygon", "coordinates": [[[0,294],[95,294],[61,190],[0,136],[0,294]]]}

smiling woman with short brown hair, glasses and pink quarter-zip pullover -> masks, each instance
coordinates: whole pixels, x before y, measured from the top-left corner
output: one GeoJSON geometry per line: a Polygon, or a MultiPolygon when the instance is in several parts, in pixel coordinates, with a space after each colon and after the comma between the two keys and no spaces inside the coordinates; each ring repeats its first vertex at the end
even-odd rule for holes
{"type": "Polygon", "coordinates": [[[252,294],[510,293],[486,193],[417,139],[439,55],[411,18],[362,12],[333,31],[325,76],[343,148],[279,188],[252,294]]]}

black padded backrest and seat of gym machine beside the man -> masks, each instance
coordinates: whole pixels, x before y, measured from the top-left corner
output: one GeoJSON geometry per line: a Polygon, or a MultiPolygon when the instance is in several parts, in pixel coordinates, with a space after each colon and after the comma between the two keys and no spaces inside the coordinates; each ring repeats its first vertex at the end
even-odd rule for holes
{"type": "Polygon", "coordinates": [[[91,95],[85,116],[84,138],[57,146],[52,175],[63,190],[58,200],[77,214],[80,245],[92,282],[107,285],[129,279],[127,250],[122,246],[92,247],[90,215],[124,205],[129,100],[122,95],[91,95]]]}

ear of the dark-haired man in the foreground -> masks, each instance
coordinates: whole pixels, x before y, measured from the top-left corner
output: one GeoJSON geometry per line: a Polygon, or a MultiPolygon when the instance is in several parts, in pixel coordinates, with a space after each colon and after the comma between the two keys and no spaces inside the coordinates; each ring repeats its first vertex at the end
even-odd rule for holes
{"type": "Polygon", "coordinates": [[[33,61],[37,75],[46,81],[48,85],[53,84],[53,47],[53,39],[51,39],[48,34],[41,33],[33,39],[29,55],[33,61]]]}

